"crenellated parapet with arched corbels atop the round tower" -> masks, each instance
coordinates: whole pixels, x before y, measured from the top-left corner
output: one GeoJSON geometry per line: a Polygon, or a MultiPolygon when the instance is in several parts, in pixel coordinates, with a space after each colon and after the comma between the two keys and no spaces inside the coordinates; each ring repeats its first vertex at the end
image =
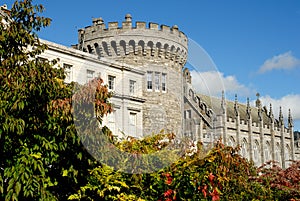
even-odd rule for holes
{"type": "Polygon", "coordinates": [[[93,25],[78,31],[77,48],[99,57],[110,57],[123,62],[143,60],[171,62],[183,66],[187,60],[188,39],[176,25],[135,22],[127,14],[119,27],[118,22],[105,25],[102,18],[93,19],[93,25]]]}

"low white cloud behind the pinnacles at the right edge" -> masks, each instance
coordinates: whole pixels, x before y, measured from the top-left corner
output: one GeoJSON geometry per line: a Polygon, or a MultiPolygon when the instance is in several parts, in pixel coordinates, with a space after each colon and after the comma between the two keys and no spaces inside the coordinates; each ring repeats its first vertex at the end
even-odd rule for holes
{"type": "Polygon", "coordinates": [[[279,107],[281,106],[283,116],[286,119],[288,117],[288,110],[291,109],[293,119],[300,120],[300,94],[289,94],[279,99],[275,99],[270,96],[262,96],[260,97],[260,100],[263,105],[267,106],[268,110],[270,103],[272,104],[272,109],[276,118],[278,118],[279,107]]]}

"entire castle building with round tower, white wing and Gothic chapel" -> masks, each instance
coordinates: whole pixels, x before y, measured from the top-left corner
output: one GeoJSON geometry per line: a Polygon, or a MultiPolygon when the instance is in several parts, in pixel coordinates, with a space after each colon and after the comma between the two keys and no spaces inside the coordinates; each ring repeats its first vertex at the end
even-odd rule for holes
{"type": "Polygon", "coordinates": [[[272,106],[256,106],[197,93],[184,68],[188,38],[176,25],[109,22],[93,19],[78,31],[78,44],[65,47],[41,40],[48,50],[40,59],[58,59],[66,70],[66,82],[85,84],[101,77],[113,92],[114,111],[103,124],[118,137],[142,138],[173,132],[204,144],[221,139],[241,146],[241,155],[259,166],[276,160],[285,168],[300,159],[299,138],[294,142],[291,112],[284,125],[282,111],[274,117],[272,106]],[[299,146],[298,146],[299,145],[299,146]]]}

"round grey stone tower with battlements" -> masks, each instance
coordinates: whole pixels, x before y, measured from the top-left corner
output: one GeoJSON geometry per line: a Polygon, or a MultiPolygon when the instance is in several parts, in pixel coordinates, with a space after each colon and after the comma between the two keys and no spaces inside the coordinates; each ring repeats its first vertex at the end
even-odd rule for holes
{"type": "Polygon", "coordinates": [[[144,72],[143,134],[182,133],[182,68],[187,60],[188,39],[176,25],[136,22],[130,14],[118,22],[93,19],[93,25],[78,31],[77,48],[132,66],[144,72]]]}

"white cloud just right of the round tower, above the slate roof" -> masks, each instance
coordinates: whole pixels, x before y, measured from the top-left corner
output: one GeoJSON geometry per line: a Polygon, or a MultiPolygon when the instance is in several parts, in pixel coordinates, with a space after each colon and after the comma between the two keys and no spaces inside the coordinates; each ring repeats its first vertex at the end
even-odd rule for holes
{"type": "Polygon", "coordinates": [[[238,82],[235,76],[224,76],[219,71],[191,71],[192,85],[199,93],[218,96],[224,90],[227,94],[248,96],[250,89],[238,82]]]}

